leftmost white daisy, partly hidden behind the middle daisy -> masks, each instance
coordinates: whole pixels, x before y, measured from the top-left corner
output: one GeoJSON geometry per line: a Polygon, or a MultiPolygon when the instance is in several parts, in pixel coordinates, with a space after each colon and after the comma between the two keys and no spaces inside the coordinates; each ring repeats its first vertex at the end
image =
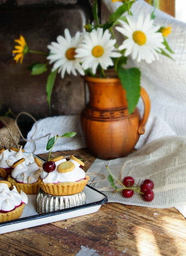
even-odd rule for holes
{"type": "Polygon", "coordinates": [[[65,29],[64,33],[65,38],[58,36],[58,43],[52,42],[51,45],[48,45],[50,55],[47,59],[50,60],[50,64],[55,62],[52,71],[59,68],[58,72],[61,72],[62,78],[65,72],[68,74],[72,72],[72,74],[76,76],[76,70],[81,75],[84,75],[84,71],[79,63],[79,58],[75,58],[75,50],[82,42],[83,34],[78,31],[74,37],[71,37],[68,29],[65,29]]]}

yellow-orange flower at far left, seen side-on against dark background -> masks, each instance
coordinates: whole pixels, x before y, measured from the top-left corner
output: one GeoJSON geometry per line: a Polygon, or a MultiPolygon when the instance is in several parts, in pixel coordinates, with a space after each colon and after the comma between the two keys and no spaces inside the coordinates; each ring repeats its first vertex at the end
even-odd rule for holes
{"type": "Polygon", "coordinates": [[[15,45],[15,50],[12,51],[13,54],[16,54],[13,59],[16,61],[16,63],[20,59],[20,63],[22,64],[23,56],[28,52],[28,46],[26,45],[26,41],[22,35],[19,39],[15,39],[14,41],[19,45],[15,45]]]}

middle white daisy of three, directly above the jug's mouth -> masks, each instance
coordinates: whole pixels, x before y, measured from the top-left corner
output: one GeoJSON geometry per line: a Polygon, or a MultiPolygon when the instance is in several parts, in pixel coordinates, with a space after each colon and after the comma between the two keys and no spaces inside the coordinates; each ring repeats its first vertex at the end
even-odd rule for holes
{"type": "Polygon", "coordinates": [[[83,44],[76,49],[77,58],[81,58],[84,70],[92,68],[92,72],[96,73],[98,64],[105,70],[109,65],[114,65],[111,57],[117,58],[121,54],[112,52],[116,48],[115,39],[110,39],[111,34],[108,30],[103,33],[102,28],[93,29],[92,32],[86,32],[83,38],[83,44]]]}

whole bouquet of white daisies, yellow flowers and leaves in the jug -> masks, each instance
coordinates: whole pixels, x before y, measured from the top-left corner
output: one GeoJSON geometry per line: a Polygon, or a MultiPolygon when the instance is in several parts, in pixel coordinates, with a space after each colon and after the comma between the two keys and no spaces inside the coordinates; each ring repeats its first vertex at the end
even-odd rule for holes
{"type": "MultiPolygon", "coordinates": [[[[112,0],[116,2],[117,0],[112,0]]],[[[23,36],[15,40],[13,54],[15,61],[20,63],[27,52],[46,55],[46,63],[35,63],[30,67],[32,75],[46,72],[52,65],[46,83],[47,100],[50,107],[50,97],[57,72],[63,79],[66,72],[76,76],[99,76],[105,78],[105,70],[114,68],[126,90],[129,114],[133,112],[140,98],[140,70],[136,67],[126,68],[129,55],[132,59],[151,63],[158,60],[159,54],[172,58],[173,53],[165,37],[171,33],[171,27],[154,25],[154,11],[144,16],[139,13],[135,19],[131,6],[135,0],[119,1],[121,4],[112,13],[107,22],[101,24],[98,18],[97,0],[92,7],[94,22],[86,24],[85,31],[70,35],[65,29],[64,36],[57,36],[57,41],[48,45],[49,52],[37,52],[29,49],[23,36]],[[114,30],[123,36],[123,43],[118,45],[114,30]],[[49,60],[49,63],[48,63],[49,60]]]]}

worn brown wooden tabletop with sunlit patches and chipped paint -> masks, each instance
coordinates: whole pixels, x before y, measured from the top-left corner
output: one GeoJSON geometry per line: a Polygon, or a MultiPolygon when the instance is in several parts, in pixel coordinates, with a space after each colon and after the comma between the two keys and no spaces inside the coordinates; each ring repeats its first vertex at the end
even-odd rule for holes
{"type": "MultiPolygon", "coordinates": [[[[52,155],[71,154],[83,158],[85,171],[95,159],[88,149],[52,155]]],[[[1,234],[2,255],[185,256],[186,220],[174,208],[107,203],[96,213],[1,234]]]]}

